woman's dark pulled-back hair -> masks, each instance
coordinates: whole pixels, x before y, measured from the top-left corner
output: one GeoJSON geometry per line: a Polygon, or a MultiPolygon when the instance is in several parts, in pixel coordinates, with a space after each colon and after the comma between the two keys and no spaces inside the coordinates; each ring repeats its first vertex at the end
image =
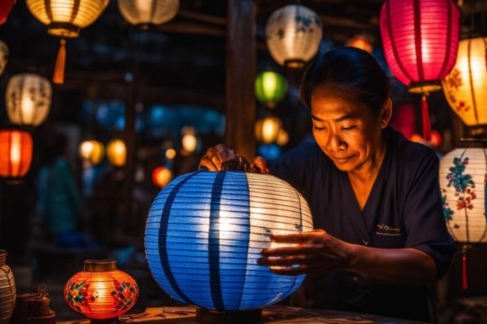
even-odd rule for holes
{"type": "Polygon", "coordinates": [[[362,49],[339,47],[324,53],[306,69],[301,80],[301,100],[311,107],[311,94],[317,87],[342,89],[365,103],[375,114],[389,98],[389,79],[377,60],[362,49]]]}

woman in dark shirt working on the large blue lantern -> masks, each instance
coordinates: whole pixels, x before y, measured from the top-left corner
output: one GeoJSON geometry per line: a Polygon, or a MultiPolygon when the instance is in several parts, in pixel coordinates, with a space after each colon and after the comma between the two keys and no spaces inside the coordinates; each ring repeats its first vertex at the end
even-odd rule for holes
{"type": "MultiPolygon", "coordinates": [[[[387,127],[388,88],[378,62],[352,47],[329,51],[305,72],[300,92],[315,143],[289,151],[270,173],[303,194],[315,230],[274,235],[296,245],[266,249],[259,262],[273,273],[311,275],[308,306],[428,321],[426,284],[445,274],[454,244],[438,158],[387,127]]],[[[236,157],[220,144],[201,166],[217,171],[236,157]]],[[[269,173],[262,157],[253,164],[269,173]]]]}

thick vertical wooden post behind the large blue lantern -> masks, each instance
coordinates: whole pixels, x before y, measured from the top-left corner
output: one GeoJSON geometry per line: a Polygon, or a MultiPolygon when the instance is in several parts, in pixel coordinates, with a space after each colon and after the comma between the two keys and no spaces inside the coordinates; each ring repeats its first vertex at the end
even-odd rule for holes
{"type": "Polygon", "coordinates": [[[255,156],[255,1],[228,0],[225,144],[255,156]]]}

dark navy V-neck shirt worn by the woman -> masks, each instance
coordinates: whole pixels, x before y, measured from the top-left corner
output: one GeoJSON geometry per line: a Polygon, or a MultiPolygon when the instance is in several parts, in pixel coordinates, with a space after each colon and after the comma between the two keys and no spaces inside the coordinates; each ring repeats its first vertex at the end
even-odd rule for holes
{"type": "MultiPolygon", "coordinates": [[[[392,128],[385,128],[383,136],[387,150],[362,211],[346,172],[314,142],[289,151],[271,173],[301,192],[310,205],[314,228],[351,244],[416,248],[433,257],[440,278],[455,247],[442,214],[438,157],[392,128]]],[[[349,272],[307,281],[309,307],[429,319],[426,287],[376,282],[349,272]]]]}

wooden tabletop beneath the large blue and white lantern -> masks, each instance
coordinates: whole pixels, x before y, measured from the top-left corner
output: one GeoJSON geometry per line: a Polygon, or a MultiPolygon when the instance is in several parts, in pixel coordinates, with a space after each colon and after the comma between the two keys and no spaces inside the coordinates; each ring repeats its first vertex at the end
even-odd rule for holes
{"type": "MultiPolygon", "coordinates": [[[[61,324],[89,324],[89,321],[65,321],[61,324]]],[[[157,307],[148,308],[141,314],[128,314],[120,317],[120,323],[145,323],[145,324],[195,324],[196,307],[157,307]]],[[[346,324],[346,323],[417,323],[398,318],[376,316],[370,314],[358,314],[349,312],[337,312],[326,309],[305,309],[300,307],[271,306],[262,312],[262,323],[280,324],[346,324]]]]}

